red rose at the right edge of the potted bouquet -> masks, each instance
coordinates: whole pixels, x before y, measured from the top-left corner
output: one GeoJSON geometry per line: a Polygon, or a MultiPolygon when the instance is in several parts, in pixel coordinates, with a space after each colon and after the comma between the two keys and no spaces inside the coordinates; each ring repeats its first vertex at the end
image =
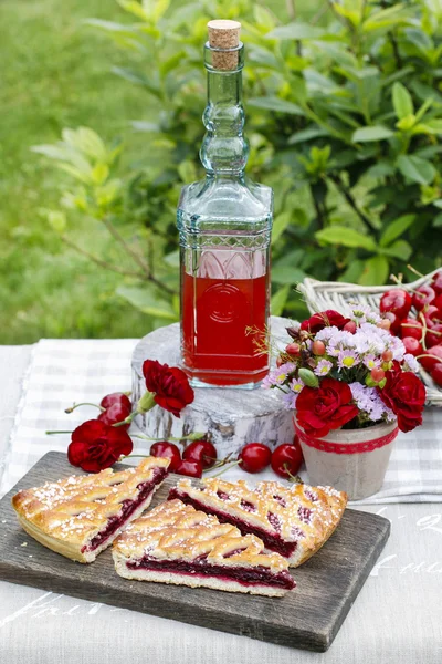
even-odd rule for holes
{"type": "Polygon", "coordinates": [[[401,432],[411,432],[422,424],[422,411],[425,404],[425,387],[411,371],[402,371],[399,362],[386,373],[387,383],[379,396],[392,409],[398,418],[401,432]]]}

